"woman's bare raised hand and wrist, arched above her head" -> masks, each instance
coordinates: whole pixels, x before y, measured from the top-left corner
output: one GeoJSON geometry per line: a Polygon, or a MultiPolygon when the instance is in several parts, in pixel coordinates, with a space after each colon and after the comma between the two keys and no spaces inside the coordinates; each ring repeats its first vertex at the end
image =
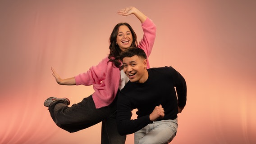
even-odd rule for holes
{"type": "Polygon", "coordinates": [[[143,14],[141,11],[139,11],[137,8],[135,8],[133,6],[129,6],[124,9],[120,9],[117,12],[117,14],[120,14],[122,16],[128,16],[128,15],[134,14],[141,21],[141,23],[145,22],[145,20],[146,20],[146,15],[143,14]]]}

